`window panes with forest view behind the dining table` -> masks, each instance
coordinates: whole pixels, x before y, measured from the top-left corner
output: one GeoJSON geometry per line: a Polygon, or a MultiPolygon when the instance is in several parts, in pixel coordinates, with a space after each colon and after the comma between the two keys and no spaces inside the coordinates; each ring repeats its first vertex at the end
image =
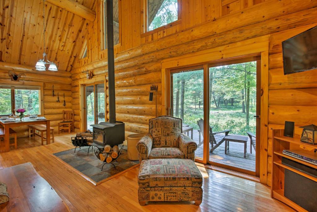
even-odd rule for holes
{"type": "Polygon", "coordinates": [[[39,90],[0,88],[0,115],[24,108],[25,114],[40,114],[39,90]]]}

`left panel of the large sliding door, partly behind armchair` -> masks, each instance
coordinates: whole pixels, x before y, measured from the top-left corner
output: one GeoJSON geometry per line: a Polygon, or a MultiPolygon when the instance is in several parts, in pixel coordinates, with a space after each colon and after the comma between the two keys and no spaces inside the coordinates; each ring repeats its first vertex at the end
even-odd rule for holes
{"type": "Polygon", "coordinates": [[[198,146],[196,157],[203,158],[204,68],[192,67],[171,71],[172,116],[183,120],[183,132],[198,146]]]}

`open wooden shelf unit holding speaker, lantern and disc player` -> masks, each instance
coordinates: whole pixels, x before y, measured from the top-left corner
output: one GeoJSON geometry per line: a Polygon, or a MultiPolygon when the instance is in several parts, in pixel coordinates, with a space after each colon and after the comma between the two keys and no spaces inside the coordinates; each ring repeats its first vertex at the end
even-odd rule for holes
{"type": "Polygon", "coordinates": [[[301,206],[297,205],[296,203],[289,200],[287,197],[284,196],[284,171],[288,169],[292,172],[300,174],[304,177],[307,177],[310,180],[317,182],[317,178],[305,174],[301,171],[298,171],[294,168],[288,167],[282,164],[281,160],[282,157],[288,158],[292,161],[299,162],[303,165],[317,168],[316,165],[301,161],[299,159],[293,158],[291,156],[283,154],[284,149],[299,149],[300,146],[302,147],[313,147],[317,148],[317,145],[312,145],[308,143],[304,143],[300,141],[300,135],[294,135],[294,138],[289,138],[284,136],[283,129],[275,129],[272,131],[272,187],[271,187],[271,197],[275,198],[285,204],[289,205],[290,207],[294,208],[297,211],[307,211],[303,209],[301,206]]]}

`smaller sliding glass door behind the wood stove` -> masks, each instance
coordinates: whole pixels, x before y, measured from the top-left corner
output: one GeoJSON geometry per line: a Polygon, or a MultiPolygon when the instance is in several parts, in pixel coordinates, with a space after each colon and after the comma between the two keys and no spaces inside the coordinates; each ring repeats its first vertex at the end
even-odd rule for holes
{"type": "Polygon", "coordinates": [[[90,125],[105,121],[105,84],[85,86],[86,129],[92,130],[90,125]]]}

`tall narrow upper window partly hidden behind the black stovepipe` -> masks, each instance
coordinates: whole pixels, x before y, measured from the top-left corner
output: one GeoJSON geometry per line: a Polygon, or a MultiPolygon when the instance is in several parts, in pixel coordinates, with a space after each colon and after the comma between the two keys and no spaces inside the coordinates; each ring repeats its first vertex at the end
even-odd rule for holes
{"type": "MultiPolygon", "coordinates": [[[[119,0],[113,0],[113,45],[119,44],[119,0]]],[[[107,49],[107,1],[104,3],[104,47],[107,49]]]]}

